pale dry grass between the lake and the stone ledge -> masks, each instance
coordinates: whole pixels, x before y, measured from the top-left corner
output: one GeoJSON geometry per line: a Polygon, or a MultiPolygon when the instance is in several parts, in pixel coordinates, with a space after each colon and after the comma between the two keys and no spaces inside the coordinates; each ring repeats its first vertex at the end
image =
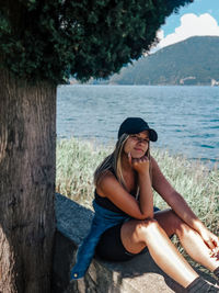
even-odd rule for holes
{"type": "MultiPolygon", "coordinates": [[[[94,142],[76,138],[57,143],[57,192],[88,207],[93,200],[93,172],[113,147],[99,146],[94,142]]],[[[196,215],[212,232],[218,233],[219,223],[219,170],[207,169],[200,161],[191,162],[181,156],[153,149],[162,172],[171,184],[185,198],[196,215]]],[[[155,205],[166,206],[162,199],[154,194],[155,205]]]]}

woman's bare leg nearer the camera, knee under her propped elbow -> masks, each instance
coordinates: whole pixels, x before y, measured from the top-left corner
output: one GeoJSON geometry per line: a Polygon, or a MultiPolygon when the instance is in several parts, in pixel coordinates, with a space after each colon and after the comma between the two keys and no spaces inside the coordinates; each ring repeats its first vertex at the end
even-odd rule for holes
{"type": "Polygon", "coordinates": [[[129,252],[138,253],[147,246],[155,263],[184,288],[198,278],[155,219],[129,221],[120,235],[129,252]]]}

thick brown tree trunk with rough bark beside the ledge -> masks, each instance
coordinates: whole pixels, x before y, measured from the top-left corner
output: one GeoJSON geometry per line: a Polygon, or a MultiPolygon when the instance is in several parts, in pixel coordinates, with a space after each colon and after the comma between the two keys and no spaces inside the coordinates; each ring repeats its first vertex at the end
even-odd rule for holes
{"type": "Polygon", "coordinates": [[[0,292],[49,293],[56,86],[0,74],[0,292]]]}

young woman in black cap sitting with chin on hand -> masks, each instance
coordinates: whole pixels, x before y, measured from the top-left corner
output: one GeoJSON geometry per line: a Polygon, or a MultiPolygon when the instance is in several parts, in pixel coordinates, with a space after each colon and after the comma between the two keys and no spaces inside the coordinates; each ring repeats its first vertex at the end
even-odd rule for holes
{"type": "Polygon", "coordinates": [[[95,253],[105,260],[130,260],[148,249],[155,263],[187,292],[219,292],[203,280],[170,237],[177,235],[187,253],[219,278],[219,239],[209,232],[162,174],[150,156],[157,132],[140,117],[126,119],[115,150],[94,173],[95,216],[79,248],[71,279],[83,277],[95,253]],[[153,206],[154,189],[170,205],[153,206]]]}

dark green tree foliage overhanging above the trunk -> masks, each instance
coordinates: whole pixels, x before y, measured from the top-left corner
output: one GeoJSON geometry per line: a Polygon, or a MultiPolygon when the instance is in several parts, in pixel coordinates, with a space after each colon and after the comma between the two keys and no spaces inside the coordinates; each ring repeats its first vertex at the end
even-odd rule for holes
{"type": "Polygon", "coordinates": [[[0,56],[30,81],[105,78],[138,59],[189,0],[0,0],[0,56]]]}

